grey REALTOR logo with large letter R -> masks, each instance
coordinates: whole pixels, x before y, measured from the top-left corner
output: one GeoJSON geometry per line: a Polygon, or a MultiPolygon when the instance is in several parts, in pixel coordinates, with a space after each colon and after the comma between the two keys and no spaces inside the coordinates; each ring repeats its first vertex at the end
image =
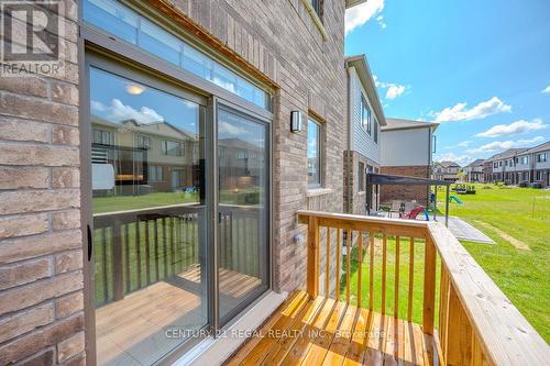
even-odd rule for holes
{"type": "Polygon", "coordinates": [[[63,26],[59,0],[1,1],[1,71],[59,74],[63,26]]]}

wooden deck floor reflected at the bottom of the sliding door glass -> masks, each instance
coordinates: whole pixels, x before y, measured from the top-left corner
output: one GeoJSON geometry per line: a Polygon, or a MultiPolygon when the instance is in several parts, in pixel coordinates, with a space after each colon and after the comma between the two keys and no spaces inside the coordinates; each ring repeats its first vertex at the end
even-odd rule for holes
{"type": "MultiPolygon", "coordinates": [[[[261,282],[230,269],[220,269],[220,295],[231,301],[261,282]]],[[[168,339],[166,329],[198,329],[207,323],[200,297],[200,266],[193,265],[96,311],[98,365],[151,364],[184,339],[168,339]],[[151,363],[150,363],[151,362],[151,363]]]]}

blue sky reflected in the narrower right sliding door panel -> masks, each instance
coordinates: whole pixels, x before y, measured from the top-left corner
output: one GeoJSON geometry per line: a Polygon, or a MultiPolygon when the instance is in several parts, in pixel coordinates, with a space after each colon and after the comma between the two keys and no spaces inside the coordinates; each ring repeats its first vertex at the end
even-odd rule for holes
{"type": "Polygon", "coordinates": [[[237,114],[220,110],[218,138],[237,138],[263,148],[265,146],[265,130],[258,123],[244,120],[237,114]]]}

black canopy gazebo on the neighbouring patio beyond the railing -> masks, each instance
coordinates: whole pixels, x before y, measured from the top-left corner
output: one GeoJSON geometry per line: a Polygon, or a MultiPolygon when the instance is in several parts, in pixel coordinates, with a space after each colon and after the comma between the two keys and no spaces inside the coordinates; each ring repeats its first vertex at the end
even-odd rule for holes
{"type": "MultiPolygon", "coordinates": [[[[371,214],[371,207],[373,201],[373,186],[446,186],[446,226],[449,225],[449,188],[452,181],[448,180],[438,180],[438,179],[429,179],[429,178],[417,178],[417,177],[405,177],[405,176],[391,176],[386,174],[375,174],[369,173],[366,175],[366,212],[371,214]]],[[[429,198],[428,198],[429,200],[429,198]]],[[[436,206],[437,203],[437,193],[436,201],[433,202],[433,218],[436,218],[436,206]]]]}

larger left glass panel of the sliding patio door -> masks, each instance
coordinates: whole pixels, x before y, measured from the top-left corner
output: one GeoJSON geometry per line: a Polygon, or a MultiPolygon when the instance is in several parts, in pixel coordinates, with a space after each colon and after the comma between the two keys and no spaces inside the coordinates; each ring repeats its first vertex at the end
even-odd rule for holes
{"type": "Polygon", "coordinates": [[[150,365],[208,323],[204,107],[90,67],[99,365],[150,365]]]}

